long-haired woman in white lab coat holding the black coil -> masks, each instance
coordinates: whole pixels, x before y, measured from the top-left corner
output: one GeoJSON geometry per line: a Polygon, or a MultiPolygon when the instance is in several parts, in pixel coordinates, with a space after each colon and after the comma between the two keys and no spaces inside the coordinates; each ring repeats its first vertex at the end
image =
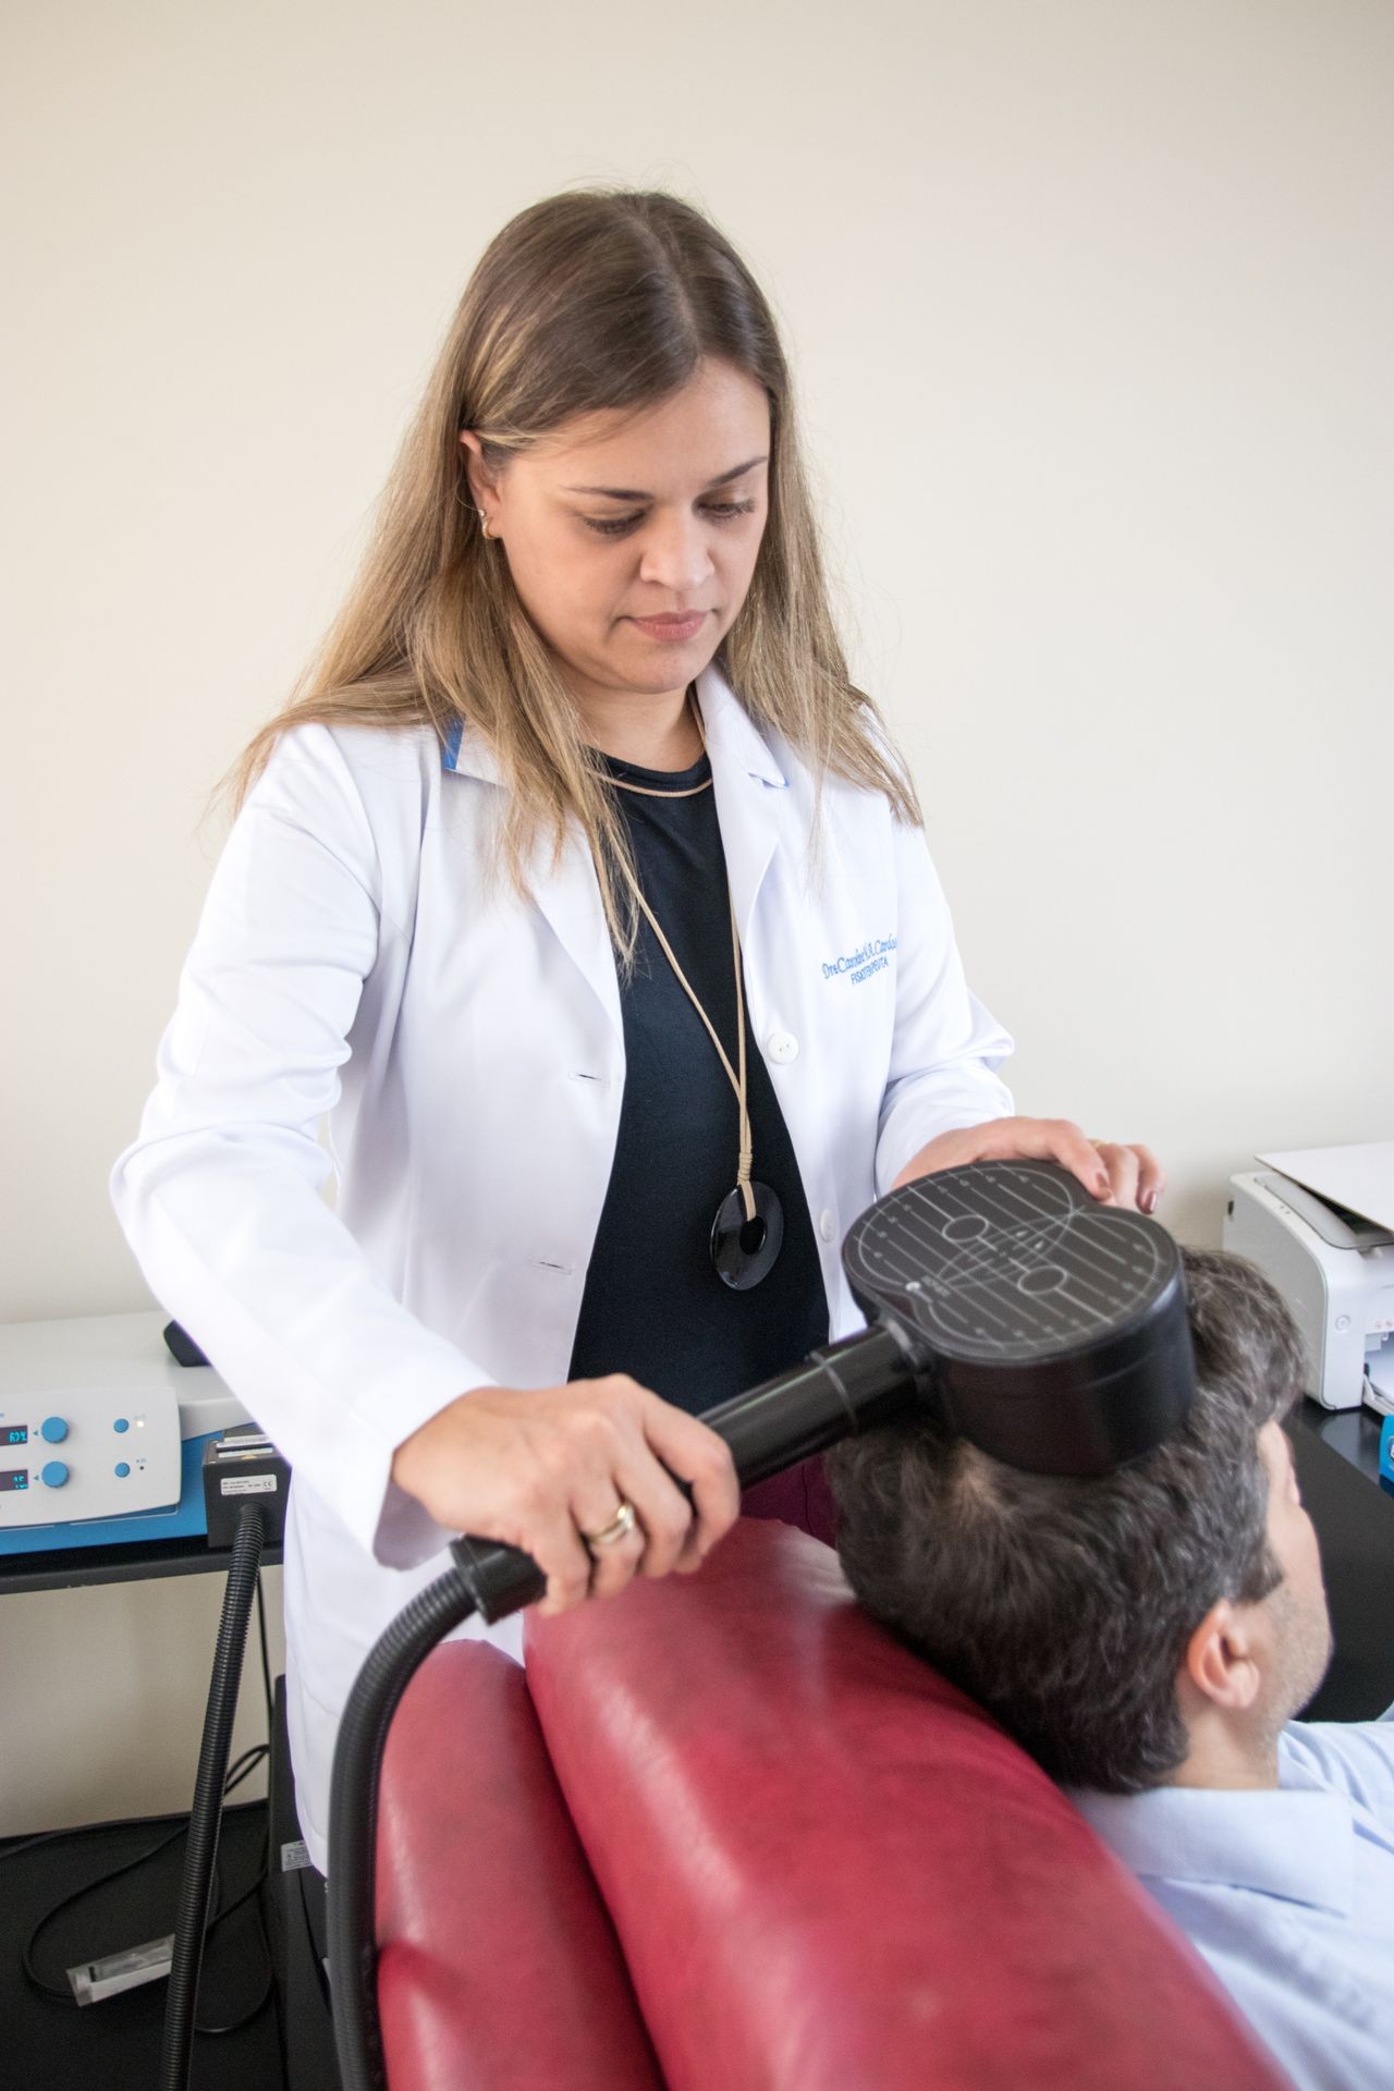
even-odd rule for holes
{"type": "Polygon", "coordinates": [[[878,1192],[980,1154],[1124,1202],[1160,1173],[1009,1117],[769,307],[673,197],[491,243],[242,784],[113,1194],[295,1470],[322,1867],[349,1683],[449,1533],[527,1547],[552,1610],[694,1568],[738,1495],[692,1411],[859,1326],[838,1244],[878,1192]]]}

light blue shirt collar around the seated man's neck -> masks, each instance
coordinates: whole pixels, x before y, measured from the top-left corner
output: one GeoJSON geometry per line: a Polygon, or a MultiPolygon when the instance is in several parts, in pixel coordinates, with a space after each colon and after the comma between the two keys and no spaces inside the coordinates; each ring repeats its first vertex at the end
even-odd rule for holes
{"type": "MultiPolygon", "coordinates": [[[[1290,1777],[1290,1767],[1283,1767],[1290,1777]]],[[[1348,1917],[1354,1894],[1350,1802],[1300,1777],[1260,1792],[1156,1786],[1145,1794],[1076,1790],[1070,1800],[1143,1880],[1252,1888],[1348,1917]]]]}

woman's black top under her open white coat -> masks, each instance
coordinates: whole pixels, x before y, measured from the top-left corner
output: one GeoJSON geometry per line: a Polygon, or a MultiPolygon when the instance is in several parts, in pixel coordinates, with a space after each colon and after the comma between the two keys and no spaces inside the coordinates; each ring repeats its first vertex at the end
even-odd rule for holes
{"type": "MultiPolygon", "coordinates": [[[[610,776],[660,792],[711,778],[637,769],[602,757],[610,776]]],[[[654,910],[731,1066],[736,962],[725,851],[713,790],[692,799],[617,792],[644,899],[654,910]]],[[[640,916],[633,979],[621,979],[625,1096],[568,1378],[627,1372],[665,1401],[700,1411],[796,1365],[828,1340],[828,1296],[798,1163],[746,1014],[752,1177],[784,1207],[784,1248],[748,1292],[721,1282],[711,1223],[736,1188],[736,1092],[663,945],[640,916]]]]}

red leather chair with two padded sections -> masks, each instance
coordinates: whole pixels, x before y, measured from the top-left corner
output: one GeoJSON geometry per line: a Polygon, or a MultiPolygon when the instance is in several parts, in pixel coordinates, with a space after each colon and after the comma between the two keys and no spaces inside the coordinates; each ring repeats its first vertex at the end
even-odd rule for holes
{"type": "Polygon", "coordinates": [[[447,1644],[389,1740],[391,2091],[1281,2091],[993,1721],[742,1522],[698,1577],[447,1644]]]}

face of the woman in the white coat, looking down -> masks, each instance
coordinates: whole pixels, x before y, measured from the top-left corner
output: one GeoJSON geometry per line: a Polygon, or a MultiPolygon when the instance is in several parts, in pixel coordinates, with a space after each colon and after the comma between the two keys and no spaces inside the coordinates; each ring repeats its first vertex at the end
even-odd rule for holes
{"type": "Polygon", "coordinates": [[[746,600],[767,516],[769,401],[723,362],[660,406],[583,414],[489,481],[464,429],[474,504],[581,715],[681,698],[746,600]],[[642,619],[683,615],[669,629],[642,619]]]}

